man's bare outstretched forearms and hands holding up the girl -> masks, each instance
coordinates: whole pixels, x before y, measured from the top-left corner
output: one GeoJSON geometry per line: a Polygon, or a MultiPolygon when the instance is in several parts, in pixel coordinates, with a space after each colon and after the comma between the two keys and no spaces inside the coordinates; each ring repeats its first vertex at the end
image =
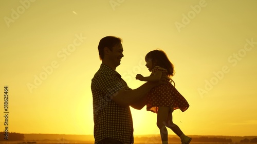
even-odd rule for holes
{"type": "Polygon", "coordinates": [[[161,83],[148,82],[134,90],[122,89],[116,92],[112,96],[112,99],[121,107],[128,107],[132,105],[133,108],[135,107],[136,109],[140,109],[144,103],[142,99],[145,97],[146,93],[160,84],[161,83]]]}

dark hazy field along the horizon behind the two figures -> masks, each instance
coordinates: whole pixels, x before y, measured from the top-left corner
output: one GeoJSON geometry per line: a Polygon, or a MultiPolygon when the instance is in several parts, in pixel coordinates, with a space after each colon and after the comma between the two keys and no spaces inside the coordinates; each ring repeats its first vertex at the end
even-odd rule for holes
{"type": "MultiPolygon", "coordinates": [[[[191,135],[191,144],[257,144],[257,136],[200,136],[191,135]],[[240,142],[242,141],[242,142],[240,142]],[[251,142],[250,142],[251,141],[251,142]],[[256,143],[253,143],[256,142],[256,143]]],[[[2,144],[94,144],[93,135],[24,134],[21,141],[0,139],[2,144]]],[[[169,135],[170,144],[181,144],[175,135],[169,135]]],[[[159,135],[134,136],[134,144],[161,144],[159,135]]]]}

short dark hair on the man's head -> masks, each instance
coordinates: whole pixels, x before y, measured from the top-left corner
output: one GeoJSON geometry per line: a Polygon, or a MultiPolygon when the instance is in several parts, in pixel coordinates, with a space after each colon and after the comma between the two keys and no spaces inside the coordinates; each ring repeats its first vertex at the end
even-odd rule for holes
{"type": "Polygon", "coordinates": [[[119,38],[119,37],[115,37],[115,36],[103,37],[100,40],[99,45],[98,45],[98,52],[99,52],[100,60],[103,60],[103,58],[104,58],[103,49],[105,47],[107,47],[109,50],[113,51],[113,47],[116,46],[116,45],[121,44],[121,42],[122,42],[122,39],[119,38]]]}

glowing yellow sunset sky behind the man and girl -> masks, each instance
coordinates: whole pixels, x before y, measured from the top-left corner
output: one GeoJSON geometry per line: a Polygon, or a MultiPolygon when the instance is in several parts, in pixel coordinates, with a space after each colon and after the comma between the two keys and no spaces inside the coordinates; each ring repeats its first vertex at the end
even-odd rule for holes
{"type": "MultiPolygon", "coordinates": [[[[257,135],[257,1],[1,1],[0,129],[93,134],[97,46],[123,39],[116,69],[131,88],[146,53],[164,50],[190,107],[174,112],[188,135],[257,135]]],[[[132,110],[134,134],[159,134],[156,114],[132,110]]],[[[169,131],[169,134],[174,134],[169,131]]]]}

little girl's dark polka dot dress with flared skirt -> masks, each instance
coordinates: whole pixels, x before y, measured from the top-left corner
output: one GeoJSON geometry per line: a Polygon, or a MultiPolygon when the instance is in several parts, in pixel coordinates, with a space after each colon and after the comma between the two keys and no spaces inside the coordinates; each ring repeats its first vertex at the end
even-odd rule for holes
{"type": "MultiPolygon", "coordinates": [[[[168,71],[159,66],[154,67],[152,74],[157,70],[162,71],[162,75],[168,75],[168,71]]],[[[180,109],[184,112],[188,109],[189,104],[170,81],[167,80],[167,84],[157,86],[147,94],[146,110],[157,113],[158,107],[173,107],[173,110],[180,109]]]]}

